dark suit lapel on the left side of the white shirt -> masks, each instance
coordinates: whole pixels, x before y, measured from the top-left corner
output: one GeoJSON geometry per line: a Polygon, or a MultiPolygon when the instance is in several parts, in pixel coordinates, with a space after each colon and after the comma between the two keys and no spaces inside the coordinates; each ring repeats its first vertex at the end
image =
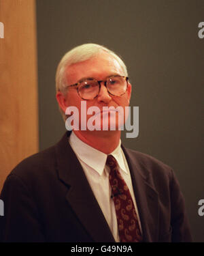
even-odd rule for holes
{"type": "Polygon", "coordinates": [[[59,179],[69,186],[66,199],[92,240],[114,242],[112,232],[92,193],[82,166],[69,145],[69,133],[67,134],[56,146],[59,179]]]}

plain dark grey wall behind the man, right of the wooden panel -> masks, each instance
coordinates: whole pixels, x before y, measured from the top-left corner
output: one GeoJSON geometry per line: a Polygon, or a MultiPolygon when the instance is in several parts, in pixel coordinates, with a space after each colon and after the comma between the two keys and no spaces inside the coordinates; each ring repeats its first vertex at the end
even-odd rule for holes
{"type": "Polygon", "coordinates": [[[74,46],[93,42],[124,59],[139,106],[139,137],[122,141],[177,175],[194,242],[204,242],[204,1],[37,0],[39,145],[58,141],[65,124],[55,100],[55,72],[74,46]]]}

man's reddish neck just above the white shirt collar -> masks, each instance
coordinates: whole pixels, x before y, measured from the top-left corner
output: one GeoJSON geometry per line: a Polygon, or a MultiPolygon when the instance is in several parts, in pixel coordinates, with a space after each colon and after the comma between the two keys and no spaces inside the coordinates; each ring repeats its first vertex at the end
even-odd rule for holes
{"type": "Polygon", "coordinates": [[[73,130],[75,135],[84,143],[94,147],[104,154],[113,152],[120,142],[120,130],[114,131],[81,131],[73,130]]]}

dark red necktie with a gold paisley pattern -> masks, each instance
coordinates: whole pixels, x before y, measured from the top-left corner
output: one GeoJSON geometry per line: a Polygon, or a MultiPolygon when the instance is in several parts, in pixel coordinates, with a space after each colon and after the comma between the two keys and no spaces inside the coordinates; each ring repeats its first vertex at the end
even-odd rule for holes
{"type": "Polygon", "coordinates": [[[141,232],[133,199],[128,186],[118,171],[114,156],[107,156],[109,166],[109,184],[112,187],[112,199],[116,208],[120,242],[141,242],[141,232]]]}

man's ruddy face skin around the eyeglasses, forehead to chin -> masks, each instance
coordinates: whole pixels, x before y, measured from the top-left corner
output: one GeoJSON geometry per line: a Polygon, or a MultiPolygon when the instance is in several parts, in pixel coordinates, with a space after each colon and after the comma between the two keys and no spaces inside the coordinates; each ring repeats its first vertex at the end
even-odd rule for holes
{"type": "MultiPolygon", "coordinates": [[[[67,67],[67,85],[73,85],[78,83],[82,79],[96,79],[97,81],[105,81],[108,76],[112,75],[120,75],[124,76],[124,72],[122,72],[122,68],[120,67],[118,61],[114,59],[114,57],[108,55],[107,53],[99,53],[97,57],[92,59],[88,59],[86,61],[82,61],[79,63],[75,63],[71,66],[67,67]]],[[[99,95],[97,98],[93,100],[86,100],[86,109],[90,106],[97,106],[100,111],[103,110],[103,106],[122,106],[122,109],[125,106],[129,106],[129,100],[131,97],[131,85],[129,83],[128,89],[125,94],[122,96],[111,96],[108,94],[107,89],[104,83],[101,83],[101,89],[99,91],[99,95]]],[[[75,87],[69,87],[67,89],[65,95],[65,104],[67,106],[76,106],[79,111],[79,117],[81,117],[81,102],[82,98],[78,95],[78,91],[75,87]]],[[[124,111],[125,113],[125,111],[124,111]]],[[[93,114],[94,115],[94,114],[93,114]]],[[[112,112],[109,115],[106,115],[107,118],[110,118],[112,112]]],[[[92,115],[86,114],[86,119],[91,117],[92,115]]],[[[101,130],[102,127],[102,118],[103,115],[101,113],[101,130]]],[[[109,120],[109,119],[108,119],[109,120]]],[[[109,121],[108,121],[109,122],[109,121]]],[[[116,130],[118,128],[118,113],[116,113],[116,130]]],[[[124,123],[124,120],[123,120],[124,123]]],[[[120,124],[121,125],[121,124],[120,124]]]]}

